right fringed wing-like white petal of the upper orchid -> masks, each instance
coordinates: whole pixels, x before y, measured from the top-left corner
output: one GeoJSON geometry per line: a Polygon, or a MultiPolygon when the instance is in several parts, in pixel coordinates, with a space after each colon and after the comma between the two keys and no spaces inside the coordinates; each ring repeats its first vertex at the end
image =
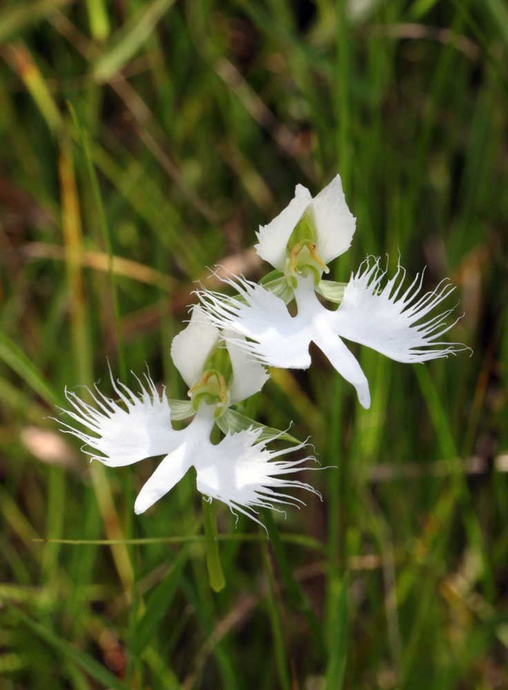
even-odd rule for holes
{"type": "Polygon", "coordinates": [[[400,264],[397,273],[381,288],[387,274],[379,266],[363,262],[356,275],[351,275],[344,290],[344,300],[331,313],[333,331],[344,338],[367,345],[397,362],[424,362],[467,349],[459,343],[440,340],[456,323],[446,323],[453,311],[448,309],[429,318],[429,313],[455,289],[442,281],[436,290],[420,297],[422,279],[419,275],[401,293],[406,272],[400,264]]]}

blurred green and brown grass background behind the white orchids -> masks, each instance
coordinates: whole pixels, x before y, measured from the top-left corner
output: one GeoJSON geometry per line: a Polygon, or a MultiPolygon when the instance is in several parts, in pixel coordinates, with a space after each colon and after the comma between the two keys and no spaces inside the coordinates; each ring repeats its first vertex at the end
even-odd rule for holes
{"type": "Polygon", "coordinates": [[[0,690],[508,687],[507,49],[504,0],[1,2],[0,690]],[[246,413],[336,469],[269,542],[217,504],[215,594],[192,473],[137,517],[157,460],[89,464],[49,417],[107,358],[185,399],[193,281],[260,279],[257,226],[336,172],[333,277],[449,277],[474,354],[353,345],[369,411],[317,350],[273,371],[246,413]]]}

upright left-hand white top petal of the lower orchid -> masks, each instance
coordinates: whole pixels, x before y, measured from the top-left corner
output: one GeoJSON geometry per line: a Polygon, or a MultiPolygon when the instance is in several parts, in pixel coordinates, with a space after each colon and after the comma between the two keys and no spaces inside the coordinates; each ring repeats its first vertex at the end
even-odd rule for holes
{"type": "Polygon", "coordinates": [[[196,304],[188,326],[175,335],[171,343],[171,358],[189,388],[201,380],[206,360],[219,338],[217,328],[196,304]]]}

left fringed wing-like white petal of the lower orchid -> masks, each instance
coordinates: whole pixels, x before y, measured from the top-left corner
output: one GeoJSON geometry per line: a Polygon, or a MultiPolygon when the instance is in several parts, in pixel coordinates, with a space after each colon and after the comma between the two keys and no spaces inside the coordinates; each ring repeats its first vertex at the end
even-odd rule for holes
{"type": "Polygon", "coordinates": [[[103,395],[97,386],[97,395],[91,391],[90,394],[99,409],[66,389],[66,398],[75,411],[64,412],[95,435],[79,431],[69,424],[64,424],[67,429],[61,431],[72,433],[84,444],[101,453],[95,455],[85,451],[92,459],[100,460],[111,467],[130,465],[143,460],[144,457],[170,453],[178,445],[179,432],[171,426],[171,411],[166,391],[163,391],[161,399],[150,376],[145,374],[145,378],[148,391],[138,379],[141,386],[138,397],[124,384],[117,384],[111,375],[115,393],[126,409],[103,395]]]}

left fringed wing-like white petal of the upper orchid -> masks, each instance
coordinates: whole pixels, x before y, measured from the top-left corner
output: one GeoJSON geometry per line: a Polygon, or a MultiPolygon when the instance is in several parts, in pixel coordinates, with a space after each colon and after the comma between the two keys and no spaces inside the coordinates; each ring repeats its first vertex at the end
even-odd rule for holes
{"type": "Polygon", "coordinates": [[[264,364],[309,368],[309,321],[291,317],[283,300],[260,285],[227,273],[222,279],[237,289],[247,304],[208,290],[199,290],[197,295],[217,328],[237,334],[237,337],[225,336],[226,342],[255,355],[264,364]]]}

